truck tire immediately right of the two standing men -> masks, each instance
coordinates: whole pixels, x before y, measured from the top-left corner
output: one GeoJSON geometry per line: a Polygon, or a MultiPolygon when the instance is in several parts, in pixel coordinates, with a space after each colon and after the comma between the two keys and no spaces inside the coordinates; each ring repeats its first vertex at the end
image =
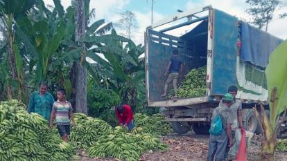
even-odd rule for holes
{"type": "Polygon", "coordinates": [[[244,129],[255,133],[257,129],[258,120],[255,112],[252,109],[243,109],[243,126],[244,129]]]}

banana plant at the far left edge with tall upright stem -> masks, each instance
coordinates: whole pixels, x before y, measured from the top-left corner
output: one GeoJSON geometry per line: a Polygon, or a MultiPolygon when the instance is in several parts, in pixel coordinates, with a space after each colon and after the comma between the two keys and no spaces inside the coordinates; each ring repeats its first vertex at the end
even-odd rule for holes
{"type": "Polygon", "coordinates": [[[26,17],[26,12],[33,8],[35,0],[2,0],[0,1],[0,19],[3,25],[3,35],[6,37],[7,45],[3,46],[6,48],[9,62],[9,81],[7,84],[8,98],[12,99],[15,97],[15,91],[18,91],[18,99],[21,100],[24,96],[24,77],[22,71],[22,60],[19,55],[19,46],[15,42],[15,26],[17,21],[26,17]]]}

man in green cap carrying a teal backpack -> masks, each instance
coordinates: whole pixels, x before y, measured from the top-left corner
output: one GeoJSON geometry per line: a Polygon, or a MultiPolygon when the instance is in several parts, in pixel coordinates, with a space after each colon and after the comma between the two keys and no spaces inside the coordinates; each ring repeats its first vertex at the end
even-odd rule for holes
{"type": "Polygon", "coordinates": [[[209,129],[210,139],[207,161],[214,161],[214,157],[216,161],[224,160],[227,142],[229,141],[229,147],[234,144],[231,126],[234,122],[229,108],[233,102],[234,97],[227,93],[223,97],[223,104],[214,108],[209,129]]]}

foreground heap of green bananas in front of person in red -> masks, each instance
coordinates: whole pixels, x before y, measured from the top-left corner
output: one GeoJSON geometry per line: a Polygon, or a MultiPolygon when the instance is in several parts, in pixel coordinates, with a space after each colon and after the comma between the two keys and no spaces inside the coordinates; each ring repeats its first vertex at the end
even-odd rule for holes
{"type": "Polygon", "coordinates": [[[121,126],[116,126],[109,135],[101,136],[89,148],[91,157],[113,157],[125,161],[137,161],[148,150],[166,150],[166,144],[149,133],[127,133],[121,126]]]}

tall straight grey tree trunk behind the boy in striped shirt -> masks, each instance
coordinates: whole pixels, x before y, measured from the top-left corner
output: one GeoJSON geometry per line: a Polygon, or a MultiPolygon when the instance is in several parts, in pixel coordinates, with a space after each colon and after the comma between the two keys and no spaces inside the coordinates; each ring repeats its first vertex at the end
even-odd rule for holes
{"type": "MultiPolygon", "coordinates": [[[[85,5],[84,0],[76,0],[75,10],[75,41],[85,37],[85,5]]],[[[87,71],[81,62],[85,61],[85,44],[81,43],[84,55],[80,61],[75,61],[71,69],[71,85],[73,108],[77,113],[87,114],[87,71]]]]}

